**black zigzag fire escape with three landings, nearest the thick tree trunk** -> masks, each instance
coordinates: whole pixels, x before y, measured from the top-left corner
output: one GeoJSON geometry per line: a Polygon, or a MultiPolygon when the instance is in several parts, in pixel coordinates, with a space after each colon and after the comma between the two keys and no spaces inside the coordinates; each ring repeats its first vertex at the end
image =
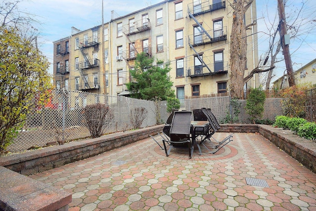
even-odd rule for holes
{"type": "Polygon", "coordinates": [[[215,64],[206,64],[202,57],[199,55],[197,50],[194,48],[194,46],[199,46],[199,45],[205,45],[213,42],[219,42],[219,41],[226,41],[227,39],[227,33],[224,32],[226,31],[226,27],[221,27],[220,30],[205,30],[203,26],[198,22],[197,16],[200,16],[204,13],[207,12],[212,12],[217,9],[224,8],[225,9],[226,2],[225,1],[220,1],[214,4],[209,4],[209,1],[202,2],[201,1],[195,1],[193,3],[188,4],[188,15],[190,19],[193,19],[196,24],[197,28],[194,31],[193,35],[188,36],[188,44],[190,48],[195,52],[195,55],[197,56],[199,62],[201,65],[199,66],[194,66],[192,67],[194,70],[191,73],[191,68],[188,69],[188,77],[200,77],[200,76],[208,76],[208,75],[215,75],[215,74],[223,74],[227,73],[228,70],[228,62],[227,65],[225,65],[226,70],[222,68],[222,70],[217,71],[216,68],[213,68],[215,64]],[[213,37],[210,35],[213,33],[213,37]],[[211,69],[214,69],[212,71],[211,69]]]}

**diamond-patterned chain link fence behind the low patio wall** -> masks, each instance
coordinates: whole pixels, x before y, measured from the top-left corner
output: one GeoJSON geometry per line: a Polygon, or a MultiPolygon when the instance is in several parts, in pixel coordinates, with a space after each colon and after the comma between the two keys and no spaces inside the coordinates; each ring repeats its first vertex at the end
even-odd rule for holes
{"type": "MultiPolygon", "coordinates": [[[[241,101],[239,123],[250,123],[245,112],[245,100],[241,101]]],[[[66,141],[80,140],[90,137],[86,127],[83,108],[87,105],[102,103],[108,105],[114,118],[104,134],[133,129],[130,121],[135,108],[145,108],[146,118],[141,127],[165,123],[169,113],[166,101],[147,101],[123,96],[108,96],[82,91],[51,91],[49,102],[44,108],[32,110],[27,115],[23,130],[19,131],[14,142],[8,146],[11,152],[21,152],[34,147],[56,144],[58,139],[66,141]]],[[[230,96],[183,99],[181,110],[210,108],[219,122],[230,115],[230,96]]],[[[282,115],[281,99],[268,98],[265,102],[263,118],[271,121],[282,115]]]]}

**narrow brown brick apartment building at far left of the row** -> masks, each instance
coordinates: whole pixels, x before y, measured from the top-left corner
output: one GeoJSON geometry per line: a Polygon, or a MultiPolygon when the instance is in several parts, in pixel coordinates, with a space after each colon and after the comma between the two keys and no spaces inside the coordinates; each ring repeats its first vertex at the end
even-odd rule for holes
{"type": "Polygon", "coordinates": [[[53,74],[54,86],[57,89],[69,89],[70,80],[70,38],[63,38],[54,44],[53,74]]]}

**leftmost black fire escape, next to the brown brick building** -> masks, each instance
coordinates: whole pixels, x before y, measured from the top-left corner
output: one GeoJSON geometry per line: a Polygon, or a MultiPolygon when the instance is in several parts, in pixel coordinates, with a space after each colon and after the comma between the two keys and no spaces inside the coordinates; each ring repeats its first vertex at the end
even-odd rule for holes
{"type": "Polygon", "coordinates": [[[85,37],[83,42],[80,42],[79,50],[83,56],[83,61],[79,63],[79,74],[83,80],[83,86],[81,86],[81,90],[92,90],[98,89],[99,83],[93,82],[91,83],[89,80],[89,76],[87,76],[86,71],[91,68],[96,68],[99,66],[99,59],[93,58],[91,59],[89,54],[85,51],[89,47],[98,47],[99,42],[97,36],[85,37]]]}

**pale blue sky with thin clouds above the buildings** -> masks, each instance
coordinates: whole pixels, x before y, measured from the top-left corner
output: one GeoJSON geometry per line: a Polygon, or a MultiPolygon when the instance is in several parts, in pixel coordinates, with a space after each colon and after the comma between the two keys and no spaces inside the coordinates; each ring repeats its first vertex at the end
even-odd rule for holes
{"type": "MultiPolygon", "coordinates": [[[[103,0],[104,22],[111,20],[111,11],[118,16],[137,11],[147,6],[161,2],[162,0],[103,0]]],[[[230,0],[226,0],[227,5],[230,0]]],[[[258,27],[258,54],[266,57],[270,36],[267,34],[271,29],[270,23],[277,18],[276,0],[256,0],[257,4],[257,27],[258,27]]],[[[71,35],[71,27],[79,30],[90,29],[102,24],[102,0],[23,0],[18,4],[21,11],[36,15],[35,19],[40,22],[38,29],[39,48],[51,63],[49,73],[53,73],[53,43],[61,38],[71,35]]],[[[307,23],[305,18],[315,19],[316,0],[287,0],[285,12],[291,19],[288,24],[294,22],[304,23],[302,28],[311,28],[299,32],[298,38],[291,39],[290,53],[294,71],[301,68],[316,58],[316,21],[307,23]],[[304,5],[303,3],[304,2],[304,5]],[[298,9],[303,9],[299,13],[298,9]],[[294,14],[302,14],[294,16],[294,14]],[[314,30],[313,30],[314,27],[314,30]]],[[[301,24],[302,25],[302,24],[301,24]]],[[[294,26],[294,25],[293,25],[294,26]]],[[[297,29],[298,26],[295,26],[297,29]]],[[[281,54],[280,54],[281,55],[281,54]]],[[[276,65],[275,77],[272,81],[281,77],[285,70],[284,62],[276,65]]]]}

